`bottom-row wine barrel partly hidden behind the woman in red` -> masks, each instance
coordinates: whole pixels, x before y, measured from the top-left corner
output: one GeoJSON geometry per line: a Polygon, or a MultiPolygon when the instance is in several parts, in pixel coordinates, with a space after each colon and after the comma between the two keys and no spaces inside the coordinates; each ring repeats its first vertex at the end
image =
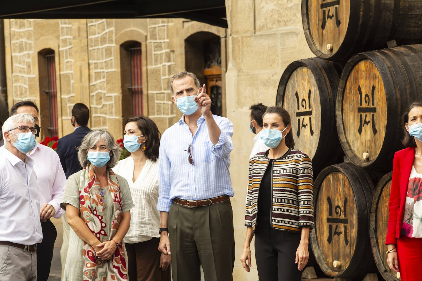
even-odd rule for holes
{"type": "Polygon", "coordinates": [[[392,172],[381,178],[373,193],[371,214],[369,217],[369,237],[371,240],[372,254],[379,273],[387,281],[398,281],[396,273],[387,265],[387,236],[388,202],[390,200],[392,172]]]}

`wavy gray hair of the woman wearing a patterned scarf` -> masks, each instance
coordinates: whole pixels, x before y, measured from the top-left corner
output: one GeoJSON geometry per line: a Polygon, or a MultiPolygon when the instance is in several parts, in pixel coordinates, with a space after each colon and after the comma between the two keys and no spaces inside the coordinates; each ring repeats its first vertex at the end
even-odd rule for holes
{"type": "Polygon", "coordinates": [[[103,139],[107,149],[111,152],[110,161],[108,161],[107,167],[113,168],[116,166],[117,161],[119,161],[120,155],[122,154],[122,147],[116,144],[114,137],[108,131],[95,129],[90,131],[84,139],[82,139],[81,146],[77,147],[78,160],[79,163],[81,163],[82,168],[86,168],[90,163],[87,157],[88,149],[96,145],[100,139],[103,139]]]}

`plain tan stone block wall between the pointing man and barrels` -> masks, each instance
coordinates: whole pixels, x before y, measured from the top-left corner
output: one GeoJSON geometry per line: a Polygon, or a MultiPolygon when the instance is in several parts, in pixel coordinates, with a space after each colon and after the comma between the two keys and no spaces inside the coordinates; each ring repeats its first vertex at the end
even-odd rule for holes
{"type": "Polygon", "coordinates": [[[300,0],[226,0],[227,118],[234,125],[230,173],[236,257],[235,280],[258,280],[254,241],[252,268],[246,273],[239,261],[245,241],[244,209],[249,154],[254,135],[249,131],[249,107],[262,102],[275,105],[281,74],[295,60],[314,57],[303,33],[300,0]]]}

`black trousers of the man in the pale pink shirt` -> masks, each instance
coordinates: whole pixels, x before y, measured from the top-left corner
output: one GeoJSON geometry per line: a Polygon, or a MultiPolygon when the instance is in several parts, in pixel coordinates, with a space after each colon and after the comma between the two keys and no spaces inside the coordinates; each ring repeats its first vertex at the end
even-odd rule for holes
{"type": "Polygon", "coordinates": [[[57,230],[50,220],[41,222],[41,228],[43,241],[37,244],[37,281],[47,281],[50,275],[51,260],[53,260],[57,230]]]}

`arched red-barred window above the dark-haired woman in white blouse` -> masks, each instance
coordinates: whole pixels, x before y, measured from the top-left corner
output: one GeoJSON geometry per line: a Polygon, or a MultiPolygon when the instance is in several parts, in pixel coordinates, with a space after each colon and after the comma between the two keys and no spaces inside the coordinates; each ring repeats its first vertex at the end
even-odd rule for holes
{"type": "MultiPolygon", "coordinates": [[[[127,41],[120,45],[120,69],[122,80],[123,115],[138,116],[143,114],[142,88],[142,50],[141,43],[127,41]],[[130,102],[130,108],[124,105],[130,102]],[[126,107],[126,108],[125,108],[126,107]]],[[[130,117],[127,116],[127,117],[130,117]]],[[[123,116],[124,121],[126,116],[123,116]]]]}

